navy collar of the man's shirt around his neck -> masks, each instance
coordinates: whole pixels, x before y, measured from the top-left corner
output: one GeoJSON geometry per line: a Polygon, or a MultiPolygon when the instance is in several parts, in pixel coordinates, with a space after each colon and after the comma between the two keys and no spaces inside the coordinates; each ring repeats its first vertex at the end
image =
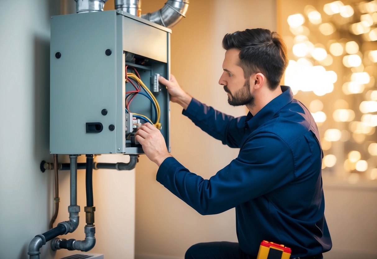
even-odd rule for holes
{"type": "Polygon", "coordinates": [[[259,126],[266,123],[268,120],[274,116],[277,111],[283,108],[285,105],[290,103],[293,100],[293,93],[289,86],[282,85],[280,86],[282,89],[282,94],[275,97],[271,102],[267,103],[260,111],[253,116],[253,114],[249,113],[246,116],[245,120],[245,127],[248,126],[250,131],[256,130],[259,126]]]}

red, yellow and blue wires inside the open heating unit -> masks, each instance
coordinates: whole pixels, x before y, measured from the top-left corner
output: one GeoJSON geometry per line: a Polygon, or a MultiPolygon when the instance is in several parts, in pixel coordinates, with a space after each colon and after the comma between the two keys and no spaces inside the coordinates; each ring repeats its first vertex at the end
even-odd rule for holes
{"type": "Polygon", "coordinates": [[[155,111],[155,121],[152,122],[151,119],[149,119],[147,116],[142,115],[142,114],[133,113],[133,116],[139,119],[143,119],[147,122],[150,122],[153,125],[155,125],[156,128],[160,129],[161,123],[159,123],[159,120],[160,120],[161,110],[156,100],[156,97],[147,88],[147,86],[143,83],[143,81],[141,81],[138,71],[136,71],[136,69],[133,67],[132,69],[135,71],[135,74],[127,72],[127,66],[126,66],[126,82],[130,82],[135,88],[135,90],[133,91],[126,92],[126,113],[130,112],[129,106],[132,100],[136,97],[136,95],[141,94],[147,97],[152,102],[152,106],[155,111]],[[144,90],[144,92],[141,91],[142,89],[144,90]]]}

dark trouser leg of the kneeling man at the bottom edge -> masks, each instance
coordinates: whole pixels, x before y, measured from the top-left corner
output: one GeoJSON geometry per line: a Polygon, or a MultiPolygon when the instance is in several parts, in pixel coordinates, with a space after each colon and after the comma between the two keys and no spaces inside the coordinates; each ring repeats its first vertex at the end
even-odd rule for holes
{"type": "Polygon", "coordinates": [[[209,242],[190,247],[185,259],[256,259],[241,251],[238,243],[209,242]]]}

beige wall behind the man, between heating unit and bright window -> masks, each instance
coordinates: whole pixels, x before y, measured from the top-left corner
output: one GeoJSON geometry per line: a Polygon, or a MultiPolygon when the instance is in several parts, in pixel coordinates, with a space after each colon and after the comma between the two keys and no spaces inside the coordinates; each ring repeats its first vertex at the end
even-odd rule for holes
{"type": "MultiPolygon", "coordinates": [[[[142,13],[161,8],[164,0],[143,0],[142,13]]],[[[275,1],[191,0],[187,18],[172,28],[171,72],[193,97],[225,113],[241,116],[244,107],[228,105],[218,85],[225,51],[222,37],[246,28],[276,29],[275,1]]],[[[190,171],[209,179],[238,154],[197,128],[181,107],[171,105],[172,155],[190,171]]],[[[157,166],[141,156],[136,167],[135,258],[183,258],[198,242],[236,241],[234,209],[201,216],[160,183],[157,166]]]]}

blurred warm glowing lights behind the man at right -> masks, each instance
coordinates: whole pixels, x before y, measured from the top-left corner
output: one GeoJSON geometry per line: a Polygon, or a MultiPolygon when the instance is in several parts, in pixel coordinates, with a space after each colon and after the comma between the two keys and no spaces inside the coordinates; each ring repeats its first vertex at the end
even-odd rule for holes
{"type": "Polygon", "coordinates": [[[377,179],[374,157],[377,156],[377,143],[368,142],[369,138],[375,139],[369,136],[375,134],[377,127],[377,90],[374,90],[377,50],[369,43],[363,44],[377,41],[377,0],[347,3],[349,5],[342,1],[329,2],[323,10],[308,5],[303,13],[288,17],[289,29],[294,35],[290,48],[295,58],[289,61],[284,83],[291,86],[294,94],[312,92],[318,96],[319,99],[313,100],[308,108],[317,125],[325,127],[321,137],[325,153],[322,168],[339,165],[349,172],[348,176],[344,175],[349,182],[356,183],[361,175],[377,179]],[[315,37],[311,28],[319,31],[322,36],[318,37],[325,39],[325,45],[321,45],[319,39],[311,39],[315,37]],[[340,34],[349,36],[340,39],[340,34]],[[349,74],[338,78],[339,67],[334,67],[335,71],[329,68],[335,62],[341,62],[345,67],[343,71],[348,69],[349,74]],[[357,96],[354,98],[356,103],[349,107],[346,100],[338,99],[324,105],[320,98],[331,95],[335,87],[348,100],[357,96]],[[343,161],[339,160],[342,155],[338,157],[332,151],[332,143],[336,142],[354,149],[343,161]]]}

